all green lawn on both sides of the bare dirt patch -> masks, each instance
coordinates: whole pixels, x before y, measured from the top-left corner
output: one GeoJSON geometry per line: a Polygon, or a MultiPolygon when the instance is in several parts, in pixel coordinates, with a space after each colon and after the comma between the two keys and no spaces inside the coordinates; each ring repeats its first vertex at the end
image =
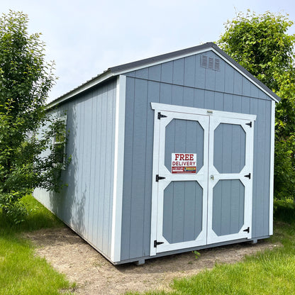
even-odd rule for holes
{"type": "MultiPolygon", "coordinates": [[[[0,212],[0,295],[71,294],[65,276],[35,257],[34,247],[21,233],[63,224],[31,196],[23,201],[30,209],[26,221],[11,226],[0,212]]],[[[274,223],[274,243],[282,247],[246,257],[235,265],[216,265],[188,279],[175,280],[171,292],[147,294],[295,294],[295,213],[294,208],[278,211],[274,223]]],[[[128,293],[138,294],[138,293],[128,293]]]]}

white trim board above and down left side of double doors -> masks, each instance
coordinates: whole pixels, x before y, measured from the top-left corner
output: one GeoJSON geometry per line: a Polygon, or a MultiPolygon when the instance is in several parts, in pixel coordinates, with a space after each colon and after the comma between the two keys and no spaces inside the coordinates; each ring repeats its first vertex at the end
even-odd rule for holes
{"type": "Polygon", "coordinates": [[[157,118],[157,113],[160,111],[171,111],[173,113],[191,113],[194,115],[203,116],[218,116],[223,118],[238,118],[244,120],[255,121],[256,115],[244,113],[232,113],[226,111],[214,111],[206,108],[194,108],[189,106],[176,106],[170,104],[159,104],[151,102],[151,107],[155,110],[154,115],[154,142],[153,142],[153,156],[152,156],[152,206],[151,206],[151,228],[150,228],[150,256],[157,254],[157,248],[154,247],[154,240],[157,240],[157,190],[158,185],[155,182],[156,174],[159,169],[159,155],[160,155],[160,123],[157,118]]]}

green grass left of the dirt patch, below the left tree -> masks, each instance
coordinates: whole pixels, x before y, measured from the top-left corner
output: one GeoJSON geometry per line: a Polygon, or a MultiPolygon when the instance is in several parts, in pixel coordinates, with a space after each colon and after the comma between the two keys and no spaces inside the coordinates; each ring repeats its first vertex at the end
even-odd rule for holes
{"type": "Polygon", "coordinates": [[[56,272],[45,259],[34,255],[33,245],[21,233],[63,226],[32,196],[23,198],[30,211],[26,221],[11,225],[0,212],[0,295],[71,294],[74,285],[56,272]]]}

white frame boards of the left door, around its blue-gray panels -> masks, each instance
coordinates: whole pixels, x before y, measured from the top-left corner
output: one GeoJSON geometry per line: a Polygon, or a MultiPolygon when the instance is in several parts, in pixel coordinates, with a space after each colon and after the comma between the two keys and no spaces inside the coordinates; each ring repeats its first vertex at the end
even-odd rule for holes
{"type": "MultiPolygon", "coordinates": [[[[199,245],[206,245],[207,237],[207,196],[208,196],[208,143],[209,143],[209,117],[203,115],[196,115],[191,113],[179,113],[179,112],[169,112],[161,110],[161,115],[167,117],[160,118],[157,120],[157,124],[160,125],[160,138],[159,138],[159,163],[157,173],[165,179],[160,180],[160,182],[153,185],[157,187],[157,241],[164,242],[157,246],[158,252],[167,252],[178,249],[185,249],[187,247],[196,247],[199,245]],[[171,116],[172,115],[172,116],[171,116]],[[174,119],[180,119],[182,121],[194,121],[198,122],[201,128],[204,130],[204,162],[201,169],[199,169],[196,174],[172,174],[169,169],[165,166],[165,138],[166,138],[166,127],[174,119]],[[164,221],[164,191],[166,187],[172,182],[197,182],[202,188],[202,228],[199,235],[194,240],[182,241],[179,243],[169,243],[163,233],[163,221],[164,221]]],[[[157,116],[157,112],[156,112],[157,116]]]]}

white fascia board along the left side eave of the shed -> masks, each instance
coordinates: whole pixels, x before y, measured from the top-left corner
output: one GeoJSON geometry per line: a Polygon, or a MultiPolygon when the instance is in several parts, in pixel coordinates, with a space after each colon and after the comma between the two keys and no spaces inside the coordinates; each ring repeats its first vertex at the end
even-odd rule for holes
{"type": "Polygon", "coordinates": [[[112,72],[108,72],[107,74],[101,74],[99,77],[96,77],[94,79],[91,79],[89,82],[86,82],[85,84],[82,84],[82,86],[77,87],[76,89],[69,91],[69,93],[61,96],[59,99],[55,99],[54,101],[50,102],[46,108],[52,108],[52,106],[56,106],[57,104],[60,104],[62,101],[67,101],[67,99],[70,99],[71,97],[82,93],[83,91],[94,87],[96,84],[99,84],[101,82],[104,82],[106,79],[109,79],[116,74],[113,74],[112,72]]]}

